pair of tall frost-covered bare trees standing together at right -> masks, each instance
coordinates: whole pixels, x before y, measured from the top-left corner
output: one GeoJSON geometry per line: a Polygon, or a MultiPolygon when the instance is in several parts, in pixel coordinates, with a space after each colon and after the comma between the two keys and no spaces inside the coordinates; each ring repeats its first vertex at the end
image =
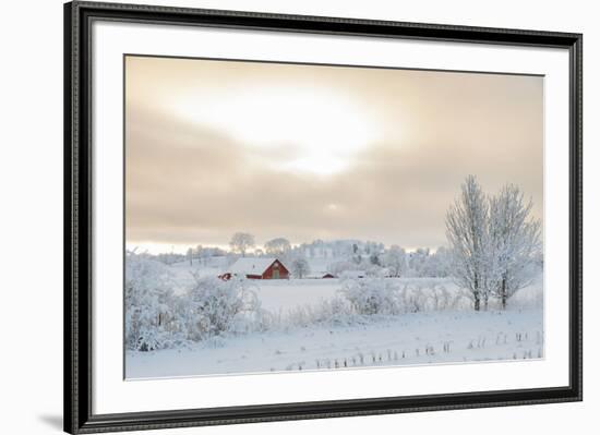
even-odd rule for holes
{"type": "Polygon", "coordinates": [[[511,297],[533,280],[540,266],[541,222],[531,217],[518,186],[508,184],[485,196],[475,177],[446,216],[451,274],[472,297],[475,310],[491,297],[503,309],[511,297]]]}

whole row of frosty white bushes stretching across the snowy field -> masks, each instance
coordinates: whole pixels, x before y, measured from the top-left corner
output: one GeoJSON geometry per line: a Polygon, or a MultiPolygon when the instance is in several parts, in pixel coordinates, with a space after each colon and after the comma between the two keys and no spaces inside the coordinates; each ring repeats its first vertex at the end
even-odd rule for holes
{"type": "MultiPolygon", "coordinates": [[[[194,276],[180,294],[171,268],[144,255],[125,262],[125,346],[152,351],[194,342],[218,345],[224,337],[313,325],[352,325],[405,313],[472,310],[470,294],[435,278],[340,277],[336,295],[288,312],[262,309],[256,286],[245,278],[224,281],[194,276]],[[449,285],[449,287],[448,287],[449,285]]],[[[542,286],[515,302],[541,304],[542,286]]],[[[497,305],[500,309],[500,305],[497,305]]]]}

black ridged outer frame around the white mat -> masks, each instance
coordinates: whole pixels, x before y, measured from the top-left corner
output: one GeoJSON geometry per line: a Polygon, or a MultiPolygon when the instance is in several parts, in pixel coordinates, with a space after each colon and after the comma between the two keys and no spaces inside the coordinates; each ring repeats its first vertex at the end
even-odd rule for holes
{"type": "Polygon", "coordinates": [[[583,35],[74,1],[64,4],[64,431],[72,434],[583,400],[583,35]],[[91,23],[95,19],[554,47],[569,52],[569,385],[119,414],[92,412],[91,23]]]}

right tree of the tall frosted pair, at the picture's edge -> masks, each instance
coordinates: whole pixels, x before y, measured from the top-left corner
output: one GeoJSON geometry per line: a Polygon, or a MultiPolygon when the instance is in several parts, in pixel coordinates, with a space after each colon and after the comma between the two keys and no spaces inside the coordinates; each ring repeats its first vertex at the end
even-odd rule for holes
{"type": "Polygon", "coordinates": [[[532,202],[508,184],[490,198],[489,267],[492,294],[503,309],[517,290],[531,283],[541,255],[541,222],[531,218],[532,202]]]}

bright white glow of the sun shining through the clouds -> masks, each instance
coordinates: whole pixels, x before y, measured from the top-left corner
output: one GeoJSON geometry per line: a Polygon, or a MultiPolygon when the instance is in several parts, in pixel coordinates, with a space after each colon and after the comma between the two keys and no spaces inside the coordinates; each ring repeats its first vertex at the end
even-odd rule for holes
{"type": "Polygon", "coordinates": [[[380,140],[381,126],[350,95],[323,86],[253,85],[214,96],[172,96],[182,120],[225,131],[244,147],[261,152],[269,169],[328,176],[380,140]],[[281,149],[289,147],[285,161],[281,149]],[[273,150],[273,153],[269,153],[273,150]]]}

